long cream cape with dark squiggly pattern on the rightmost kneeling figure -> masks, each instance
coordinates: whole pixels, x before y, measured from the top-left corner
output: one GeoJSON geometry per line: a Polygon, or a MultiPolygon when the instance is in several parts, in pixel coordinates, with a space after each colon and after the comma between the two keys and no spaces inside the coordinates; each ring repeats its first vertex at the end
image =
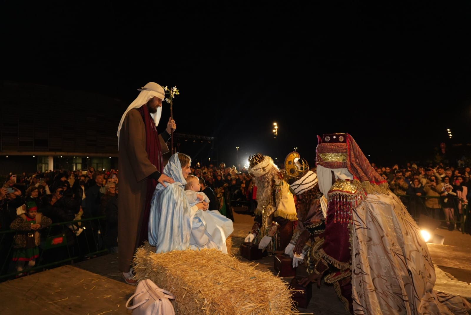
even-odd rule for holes
{"type": "Polygon", "coordinates": [[[353,209],[353,224],[354,314],[468,314],[464,298],[433,290],[427,244],[397,196],[368,194],[353,209]]]}

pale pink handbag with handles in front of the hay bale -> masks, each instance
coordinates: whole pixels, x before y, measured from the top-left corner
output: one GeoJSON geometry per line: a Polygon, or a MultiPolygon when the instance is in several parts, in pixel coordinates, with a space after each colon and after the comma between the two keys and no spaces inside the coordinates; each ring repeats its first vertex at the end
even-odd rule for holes
{"type": "Polygon", "coordinates": [[[136,293],[128,299],[126,307],[132,310],[133,315],[175,315],[170,301],[174,299],[175,296],[169,291],[146,279],[138,283],[136,293]],[[132,306],[128,306],[131,300],[132,306]]]}

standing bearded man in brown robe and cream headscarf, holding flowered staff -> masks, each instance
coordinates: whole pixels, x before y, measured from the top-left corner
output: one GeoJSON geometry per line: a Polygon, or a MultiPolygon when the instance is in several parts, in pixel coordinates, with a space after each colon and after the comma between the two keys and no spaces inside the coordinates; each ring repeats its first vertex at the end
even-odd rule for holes
{"type": "Polygon", "coordinates": [[[147,83],[121,118],[118,127],[120,193],[118,197],[118,267],[124,280],[133,280],[130,265],[136,249],[147,239],[150,201],[160,182],[174,182],[162,174],[162,153],[169,151],[166,141],[176,129],[169,119],[165,132],[157,133],[162,112],[163,88],[147,83]],[[162,152],[163,151],[163,152],[162,152]]]}

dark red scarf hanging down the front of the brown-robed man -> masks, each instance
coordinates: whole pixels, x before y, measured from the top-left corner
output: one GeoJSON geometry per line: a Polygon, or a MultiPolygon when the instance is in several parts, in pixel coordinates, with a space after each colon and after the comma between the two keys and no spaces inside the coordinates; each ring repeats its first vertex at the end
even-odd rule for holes
{"type": "MultiPolygon", "coordinates": [[[[144,124],[146,125],[146,152],[149,157],[149,161],[154,164],[157,168],[157,171],[162,173],[163,171],[163,160],[162,160],[162,148],[160,146],[159,133],[157,133],[157,128],[154,123],[154,119],[149,114],[147,106],[144,104],[138,108],[139,113],[141,113],[144,124]]],[[[142,225],[139,233],[138,246],[142,244],[143,241],[148,238],[148,224],[149,224],[149,213],[150,213],[150,203],[152,200],[152,195],[154,194],[155,186],[157,186],[157,181],[152,178],[147,178],[147,187],[146,187],[146,206],[144,208],[144,216],[142,220],[142,225]]]]}

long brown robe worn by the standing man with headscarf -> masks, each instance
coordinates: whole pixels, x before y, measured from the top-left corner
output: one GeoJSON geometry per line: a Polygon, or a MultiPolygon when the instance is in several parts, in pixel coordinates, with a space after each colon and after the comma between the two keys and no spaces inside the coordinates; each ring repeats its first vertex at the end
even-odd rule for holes
{"type": "MultiPolygon", "coordinates": [[[[143,105],[145,106],[145,105],[143,105]]],[[[159,135],[162,153],[168,147],[159,135]]],[[[146,152],[146,126],[137,109],[124,118],[119,137],[119,195],[118,195],[118,268],[129,272],[138,244],[146,204],[146,179],[157,171],[146,152]]],[[[162,170],[160,170],[162,171],[162,170]]]]}

